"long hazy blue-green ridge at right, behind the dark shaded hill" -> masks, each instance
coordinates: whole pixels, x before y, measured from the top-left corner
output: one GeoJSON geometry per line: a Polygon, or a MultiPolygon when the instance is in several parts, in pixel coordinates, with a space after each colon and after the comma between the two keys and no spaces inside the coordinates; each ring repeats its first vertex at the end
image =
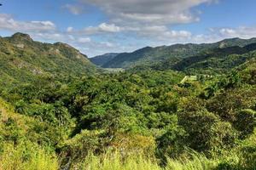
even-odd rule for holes
{"type": "Polygon", "coordinates": [[[132,53],[118,54],[113,59],[108,60],[102,67],[131,68],[137,65],[155,65],[160,62],[175,63],[180,59],[195,56],[213,48],[244,47],[253,42],[256,42],[256,38],[231,38],[215,43],[175,44],[156,48],[146,47],[132,53]]]}

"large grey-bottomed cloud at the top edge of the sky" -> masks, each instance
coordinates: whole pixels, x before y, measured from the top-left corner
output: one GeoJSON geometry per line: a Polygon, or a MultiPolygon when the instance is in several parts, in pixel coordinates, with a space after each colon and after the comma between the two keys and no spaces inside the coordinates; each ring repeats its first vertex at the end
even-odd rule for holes
{"type": "Polygon", "coordinates": [[[182,24],[199,20],[191,8],[214,0],[80,0],[102,8],[113,22],[182,24]]]}

